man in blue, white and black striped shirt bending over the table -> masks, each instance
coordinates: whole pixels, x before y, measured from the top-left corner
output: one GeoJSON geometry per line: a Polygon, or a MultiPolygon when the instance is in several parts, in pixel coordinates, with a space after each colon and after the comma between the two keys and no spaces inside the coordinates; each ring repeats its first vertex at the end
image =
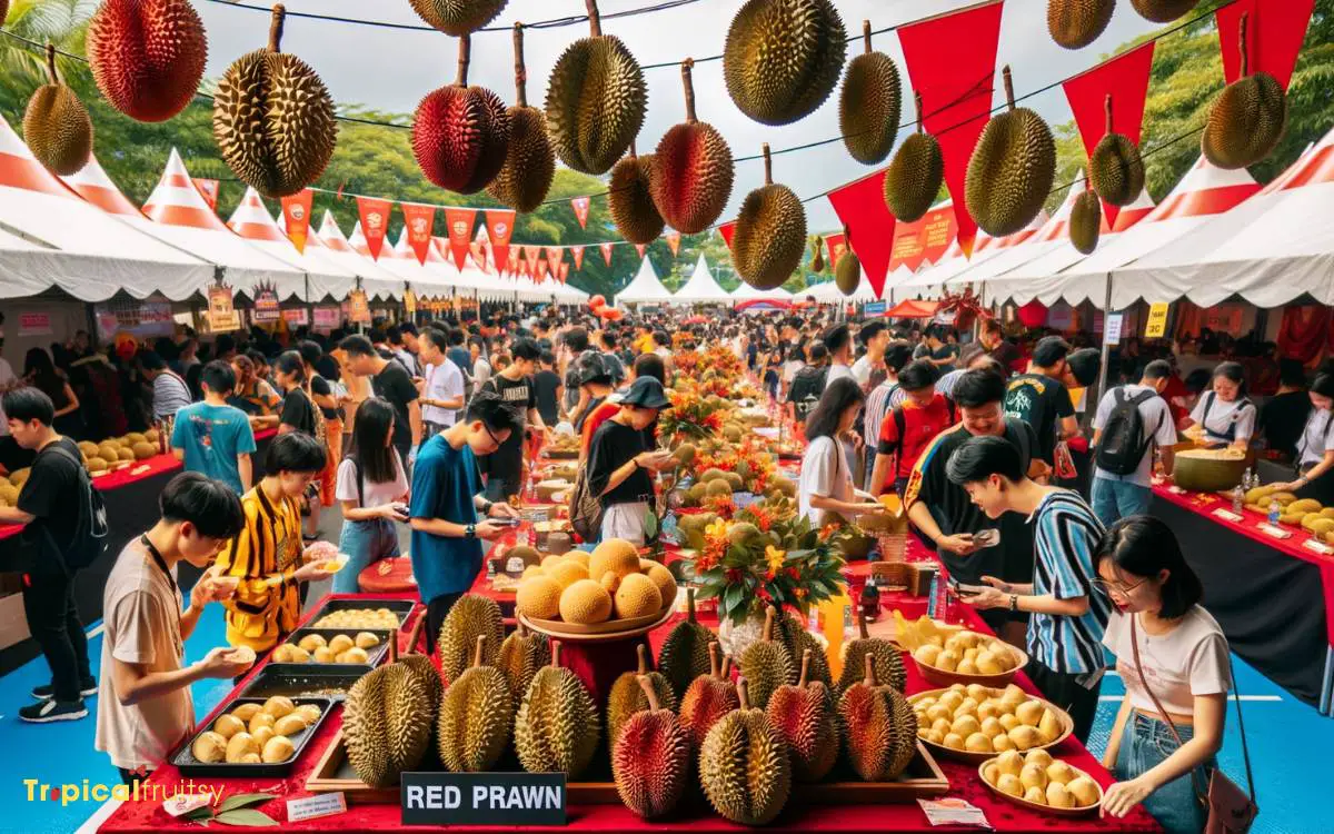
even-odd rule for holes
{"type": "Polygon", "coordinates": [[[955,484],[990,518],[1027,515],[1035,523],[1033,584],[982,576],[983,586],[960,588],[978,608],[1029,611],[1029,666],[1042,694],[1070,713],[1074,734],[1089,741],[1106,666],[1102,635],[1110,603],[1094,592],[1094,554],[1106,532],[1078,492],[1031,480],[1019,451],[1000,438],[971,438],[946,467],[955,484]]]}

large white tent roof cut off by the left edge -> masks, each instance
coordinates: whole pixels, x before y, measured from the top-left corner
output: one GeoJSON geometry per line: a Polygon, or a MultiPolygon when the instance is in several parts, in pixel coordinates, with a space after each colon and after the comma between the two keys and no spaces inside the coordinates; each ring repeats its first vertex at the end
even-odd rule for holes
{"type": "MultiPolygon", "coordinates": [[[[60,287],[84,302],[101,302],[124,290],[136,298],[161,292],[183,300],[213,279],[212,266],[112,218],[47,171],[0,119],[0,224],[19,235],[79,259],[45,255],[49,270],[24,274],[9,263],[12,286],[0,295],[21,298],[60,287]]],[[[40,248],[40,247],[39,247],[40,248]]],[[[32,252],[36,258],[41,252],[32,252]]]]}

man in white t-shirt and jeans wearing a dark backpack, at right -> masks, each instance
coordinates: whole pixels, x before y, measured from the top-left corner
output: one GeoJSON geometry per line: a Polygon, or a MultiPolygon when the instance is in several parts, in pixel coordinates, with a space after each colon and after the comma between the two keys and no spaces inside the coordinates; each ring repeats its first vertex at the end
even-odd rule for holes
{"type": "Polygon", "coordinates": [[[1093,511],[1103,524],[1149,512],[1153,496],[1154,447],[1171,471],[1177,427],[1162,392],[1171,366],[1162,359],[1145,366],[1138,384],[1107,391],[1093,418],[1093,511]]]}

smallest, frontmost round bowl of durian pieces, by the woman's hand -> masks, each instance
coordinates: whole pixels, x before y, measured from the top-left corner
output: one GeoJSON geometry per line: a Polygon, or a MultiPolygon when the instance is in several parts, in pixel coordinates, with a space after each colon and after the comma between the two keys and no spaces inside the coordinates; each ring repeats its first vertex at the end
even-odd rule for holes
{"type": "Polygon", "coordinates": [[[1046,750],[1006,750],[978,765],[994,793],[1030,811],[1054,817],[1083,817],[1102,805],[1102,786],[1046,750]]]}

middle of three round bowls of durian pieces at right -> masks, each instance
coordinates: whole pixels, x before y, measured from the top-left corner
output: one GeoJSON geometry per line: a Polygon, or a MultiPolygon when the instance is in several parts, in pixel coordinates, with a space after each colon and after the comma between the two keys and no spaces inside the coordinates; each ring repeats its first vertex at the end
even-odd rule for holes
{"type": "Polygon", "coordinates": [[[963,762],[983,762],[1009,750],[1046,750],[1074,731],[1069,713],[1014,683],[1003,690],[956,683],[910,695],[908,703],[922,743],[963,762]]]}

